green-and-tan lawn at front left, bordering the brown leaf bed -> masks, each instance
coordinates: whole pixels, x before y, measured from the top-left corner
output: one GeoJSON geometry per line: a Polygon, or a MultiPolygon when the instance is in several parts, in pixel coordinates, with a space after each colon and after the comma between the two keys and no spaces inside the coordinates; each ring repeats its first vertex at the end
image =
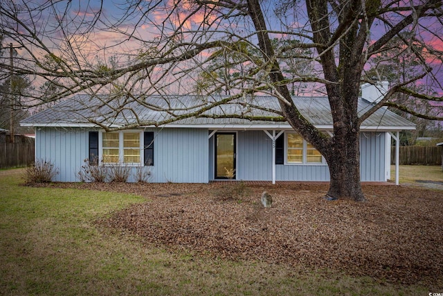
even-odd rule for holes
{"type": "Polygon", "coordinates": [[[225,261],[143,245],[94,223],[145,198],[21,186],[0,173],[1,295],[427,295],[333,270],[225,261]]]}

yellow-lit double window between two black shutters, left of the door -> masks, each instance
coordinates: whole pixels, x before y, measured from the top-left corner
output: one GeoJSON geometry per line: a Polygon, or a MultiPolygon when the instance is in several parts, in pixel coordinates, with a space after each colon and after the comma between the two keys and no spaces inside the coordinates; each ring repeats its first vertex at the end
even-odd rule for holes
{"type": "Polygon", "coordinates": [[[102,132],[103,164],[142,163],[142,133],[134,131],[102,132]]]}

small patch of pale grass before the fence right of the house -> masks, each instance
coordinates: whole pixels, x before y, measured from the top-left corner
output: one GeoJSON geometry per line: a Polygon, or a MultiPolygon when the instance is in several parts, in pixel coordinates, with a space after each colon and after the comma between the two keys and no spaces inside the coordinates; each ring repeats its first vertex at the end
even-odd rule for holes
{"type": "MultiPolygon", "coordinates": [[[[395,166],[391,166],[395,180],[395,166]]],[[[442,166],[399,166],[399,184],[416,184],[417,180],[443,182],[442,166]]]]}

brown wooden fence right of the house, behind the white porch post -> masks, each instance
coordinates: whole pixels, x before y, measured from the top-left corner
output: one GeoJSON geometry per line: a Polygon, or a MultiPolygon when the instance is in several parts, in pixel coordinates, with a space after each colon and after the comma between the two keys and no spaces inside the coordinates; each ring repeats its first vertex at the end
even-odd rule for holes
{"type": "MultiPolygon", "coordinates": [[[[401,146],[400,164],[442,164],[442,147],[401,146]]],[[[390,149],[390,163],[395,164],[395,147],[390,149]]]]}

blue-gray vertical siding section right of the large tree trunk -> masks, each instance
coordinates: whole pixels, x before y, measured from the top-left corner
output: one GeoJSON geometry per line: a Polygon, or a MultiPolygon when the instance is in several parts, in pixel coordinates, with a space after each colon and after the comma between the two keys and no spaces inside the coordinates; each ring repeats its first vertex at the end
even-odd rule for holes
{"type": "Polygon", "coordinates": [[[360,136],[360,177],[361,181],[386,181],[384,132],[361,132],[360,136]]]}

